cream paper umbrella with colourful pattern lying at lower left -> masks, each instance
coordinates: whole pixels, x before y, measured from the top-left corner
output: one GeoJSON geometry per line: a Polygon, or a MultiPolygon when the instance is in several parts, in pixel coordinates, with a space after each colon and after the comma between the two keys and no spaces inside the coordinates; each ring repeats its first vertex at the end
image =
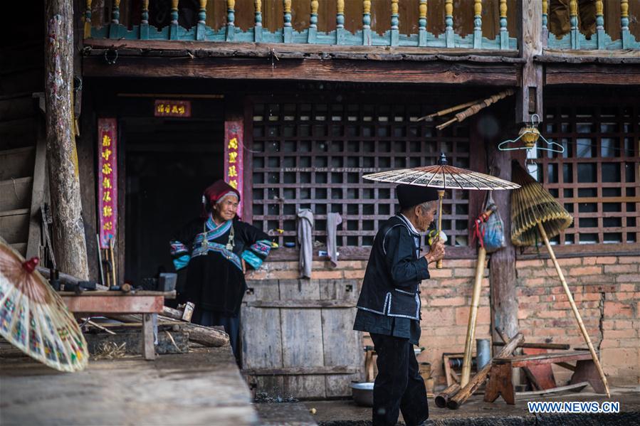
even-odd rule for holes
{"type": "Polygon", "coordinates": [[[59,371],[87,366],[87,343],[61,297],[36,271],[0,241],[0,334],[31,358],[59,371]]]}

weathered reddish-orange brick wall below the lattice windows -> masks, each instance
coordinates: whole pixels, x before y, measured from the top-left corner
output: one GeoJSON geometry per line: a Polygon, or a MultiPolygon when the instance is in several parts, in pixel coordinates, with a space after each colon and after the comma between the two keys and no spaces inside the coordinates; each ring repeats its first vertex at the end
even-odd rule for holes
{"type": "MultiPolygon", "coordinates": [[[[584,325],[612,385],[640,383],[640,270],[636,257],[574,257],[559,260],[584,325]]],[[[313,262],[314,279],[362,279],[366,261],[342,261],[337,269],[313,262]]],[[[551,260],[518,260],[518,325],[525,341],[586,347],[551,260]]],[[[418,361],[431,363],[444,385],[442,353],[464,351],[475,260],[446,260],[421,285],[422,336],[418,361]]],[[[485,269],[476,338],[491,337],[488,270],[485,269]]],[[[296,279],[298,262],[266,262],[249,279],[296,279]]],[[[345,324],[350,328],[352,324],[345,324]]],[[[364,344],[370,344],[364,336],[364,344]]],[[[554,368],[558,382],[570,371],[554,368]]]]}

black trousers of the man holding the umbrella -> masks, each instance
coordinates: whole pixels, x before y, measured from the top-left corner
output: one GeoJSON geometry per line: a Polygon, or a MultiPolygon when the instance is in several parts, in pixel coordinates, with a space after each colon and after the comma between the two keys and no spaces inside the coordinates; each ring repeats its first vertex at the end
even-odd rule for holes
{"type": "Polygon", "coordinates": [[[424,380],[419,374],[409,339],[371,334],[377,353],[378,375],[373,387],[373,424],[395,425],[399,411],[407,426],[429,417],[424,380]]]}

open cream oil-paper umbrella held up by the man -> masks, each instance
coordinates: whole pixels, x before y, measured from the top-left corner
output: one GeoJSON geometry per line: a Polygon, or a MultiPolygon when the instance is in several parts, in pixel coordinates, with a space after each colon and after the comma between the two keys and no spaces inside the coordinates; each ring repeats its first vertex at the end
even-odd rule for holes
{"type": "MultiPolygon", "coordinates": [[[[439,213],[438,213],[438,233],[442,229],[442,198],[446,189],[515,189],[520,185],[496,178],[488,174],[461,169],[449,166],[444,153],[440,154],[438,164],[435,166],[415,167],[414,169],[398,169],[381,171],[379,173],[362,176],[364,179],[379,182],[406,183],[417,186],[430,186],[438,188],[439,213]]],[[[437,268],[442,267],[442,261],[436,263],[437,268]]]]}

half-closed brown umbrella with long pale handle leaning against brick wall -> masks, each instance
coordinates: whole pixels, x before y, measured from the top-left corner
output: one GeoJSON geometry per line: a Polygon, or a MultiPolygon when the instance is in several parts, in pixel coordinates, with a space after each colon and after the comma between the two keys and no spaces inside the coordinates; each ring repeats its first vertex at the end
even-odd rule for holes
{"type": "Polygon", "coordinates": [[[607,396],[610,397],[607,378],[604,376],[604,371],[602,371],[602,366],[600,365],[596,351],[591,343],[591,339],[589,339],[587,329],[584,327],[582,317],[565,280],[565,275],[562,274],[553,248],[549,243],[549,238],[555,237],[562,230],[569,227],[573,218],[517,161],[514,161],[512,170],[513,180],[520,183],[522,188],[511,193],[511,241],[514,245],[533,245],[539,240],[544,241],[558,277],[560,277],[560,282],[562,282],[562,287],[567,294],[567,299],[569,299],[569,303],[571,304],[575,319],[578,321],[578,326],[582,332],[584,341],[586,341],[587,346],[589,346],[593,362],[602,379],[604,388],[607,390],[607,396]]]}

